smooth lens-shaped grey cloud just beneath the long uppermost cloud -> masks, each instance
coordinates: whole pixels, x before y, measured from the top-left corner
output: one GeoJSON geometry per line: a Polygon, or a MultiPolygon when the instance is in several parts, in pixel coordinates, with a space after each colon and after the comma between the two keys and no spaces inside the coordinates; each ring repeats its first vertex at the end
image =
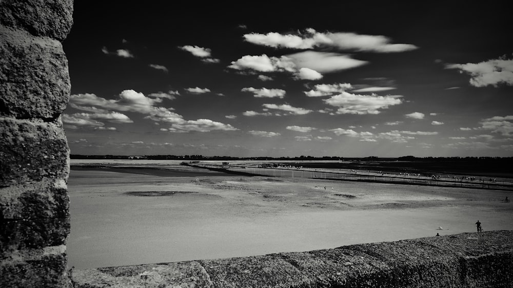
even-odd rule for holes
{"type": "MultiPolygon", "coordinates": [[[[282,56],[283,57],[283,56],[282,56]]],[[[297,69],[308,68],[319,73],[330,73],[367,64],[367,61],[351,58],[350,55],[333,53],[304,51],[286,55],[297,69]]]]}

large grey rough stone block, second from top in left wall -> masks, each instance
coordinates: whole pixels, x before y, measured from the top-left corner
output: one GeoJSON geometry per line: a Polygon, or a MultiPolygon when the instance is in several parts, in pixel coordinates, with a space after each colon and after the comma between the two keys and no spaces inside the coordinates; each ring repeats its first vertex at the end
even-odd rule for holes
{"type": "Polygon", "coordinates": [[[0,25],[0,83],[0,116],[58,117],[71,89],[61,43],[0,25]]]}

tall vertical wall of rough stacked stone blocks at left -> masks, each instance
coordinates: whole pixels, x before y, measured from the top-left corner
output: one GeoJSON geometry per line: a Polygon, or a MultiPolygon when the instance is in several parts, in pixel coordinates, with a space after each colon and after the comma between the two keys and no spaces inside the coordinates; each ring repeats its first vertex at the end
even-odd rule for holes
{"type": "Polygon", "coordinates": [[[0,287],[69,287],[71,0],[0,0],[0,287]]]}

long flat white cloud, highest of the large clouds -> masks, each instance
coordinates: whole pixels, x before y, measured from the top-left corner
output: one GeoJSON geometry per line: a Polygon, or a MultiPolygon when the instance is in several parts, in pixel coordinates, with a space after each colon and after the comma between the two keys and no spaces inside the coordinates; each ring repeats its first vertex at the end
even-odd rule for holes
{"type": "Polygon", "coordinates": [[[257,45],[292,49],[332,47],[339,50],[391,53],[418,48],[411,44],[392,44],[391,39],[383,35],[363,35],[350,32],[320,33],[312,28],[297,34],[249,33],[244,35],[244,39],[257,45]]]}

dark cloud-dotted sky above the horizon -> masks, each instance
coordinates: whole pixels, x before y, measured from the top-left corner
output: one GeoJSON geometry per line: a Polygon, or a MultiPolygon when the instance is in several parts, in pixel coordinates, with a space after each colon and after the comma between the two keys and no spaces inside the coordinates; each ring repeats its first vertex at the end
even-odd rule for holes
{"type": "Polygon", "coordinates": [[[75,1],[72,154],[513,156],[505,2],[172,3],[75,1]]]}

